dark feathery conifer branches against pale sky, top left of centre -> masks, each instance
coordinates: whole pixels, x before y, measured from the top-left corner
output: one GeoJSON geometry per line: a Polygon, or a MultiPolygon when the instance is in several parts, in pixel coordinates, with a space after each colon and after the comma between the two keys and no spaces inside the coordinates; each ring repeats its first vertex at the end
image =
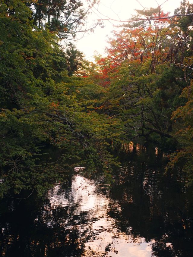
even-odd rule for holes
{"type": "Polygon", "coordinates": [[[60,39],[73,39],[76,33],[93,30],[101,22],[87,28],[87,17],[97,0],[89,0],[86,8],[79,0],[38,0],[29,1],[27,5],[32,11],[33,24],[47,27],[57,33],[60,39]]]}

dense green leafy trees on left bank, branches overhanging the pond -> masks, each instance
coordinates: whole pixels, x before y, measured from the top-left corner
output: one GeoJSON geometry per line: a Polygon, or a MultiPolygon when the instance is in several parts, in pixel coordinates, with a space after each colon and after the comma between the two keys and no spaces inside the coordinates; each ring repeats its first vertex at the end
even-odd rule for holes
{"type": "Polygon", "coordinates": [[[108,176],[116,163],[107,149],[120,122],[94,111],[105,90],[73,76],[82,54],[72,44],[63,51],[58,33],[34,29],[32,17],[23,1],[0,5],[0,197],[26,190],[43,196],[72,159],[80,164],[86,156],[92,171],[105,167],[108,176]],[[44,159],[44,145],[61,149],[60,160],[44,159]]]}

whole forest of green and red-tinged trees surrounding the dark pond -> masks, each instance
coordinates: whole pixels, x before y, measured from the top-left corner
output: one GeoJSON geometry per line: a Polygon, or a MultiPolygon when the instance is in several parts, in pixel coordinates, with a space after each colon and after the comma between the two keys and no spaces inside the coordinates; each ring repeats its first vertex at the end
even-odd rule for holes
{"type": "Polygon", "coordinates": [[[86,27],[89,3],[0,1],[1,198],[43,197],[74,165],[111,183],[122,144],[139,138],[166,149],[165,173],[181,167],[192,186],[193,4],[172,18],[136,10],[89,62],[73,44],[103,27],[86,27]]]}

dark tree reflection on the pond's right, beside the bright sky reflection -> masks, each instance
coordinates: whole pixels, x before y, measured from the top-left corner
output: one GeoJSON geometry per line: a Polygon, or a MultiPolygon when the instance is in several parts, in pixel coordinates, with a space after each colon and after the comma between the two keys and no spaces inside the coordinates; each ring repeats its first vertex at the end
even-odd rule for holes
{"type": "Polygon", "coordinates": [[[111,198],[119,200],[122,231],[132,227],[133,237],[153,239],[156,256],[192,256],[192,196],[183,193],[184,174],[177,170],[163,176],[163,169],[147,163],[129,161],[115,176],[111,198]]]}

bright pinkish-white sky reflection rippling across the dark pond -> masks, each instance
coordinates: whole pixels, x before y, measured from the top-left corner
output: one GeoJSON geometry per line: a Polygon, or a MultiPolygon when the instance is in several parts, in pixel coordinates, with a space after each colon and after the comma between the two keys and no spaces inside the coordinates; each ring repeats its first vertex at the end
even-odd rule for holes
{"type": "Polygon", "coordinates": [[[78,230],[77,240],[85,244],[83,256],[154,256],[151,249],[153,240],[145,242],[143,237],[133,237],[130,233],[132,227],[128,227],[127,232],[121,232],[119,220],[109,215],[109,212],[121,215],[118,201],[103,194],[100,185],[93,180],[74,175],[70,188],[61,188],[56,184],[49,190],[47,200],[44,222],[49,227],[57,222],[66,230],[78,230]],[[61,208],[67,209],[67,215],[54,221],[53,211],[61,208]],[[88,240],[84,240],[85,233],[90,235],[88,240]]]}

